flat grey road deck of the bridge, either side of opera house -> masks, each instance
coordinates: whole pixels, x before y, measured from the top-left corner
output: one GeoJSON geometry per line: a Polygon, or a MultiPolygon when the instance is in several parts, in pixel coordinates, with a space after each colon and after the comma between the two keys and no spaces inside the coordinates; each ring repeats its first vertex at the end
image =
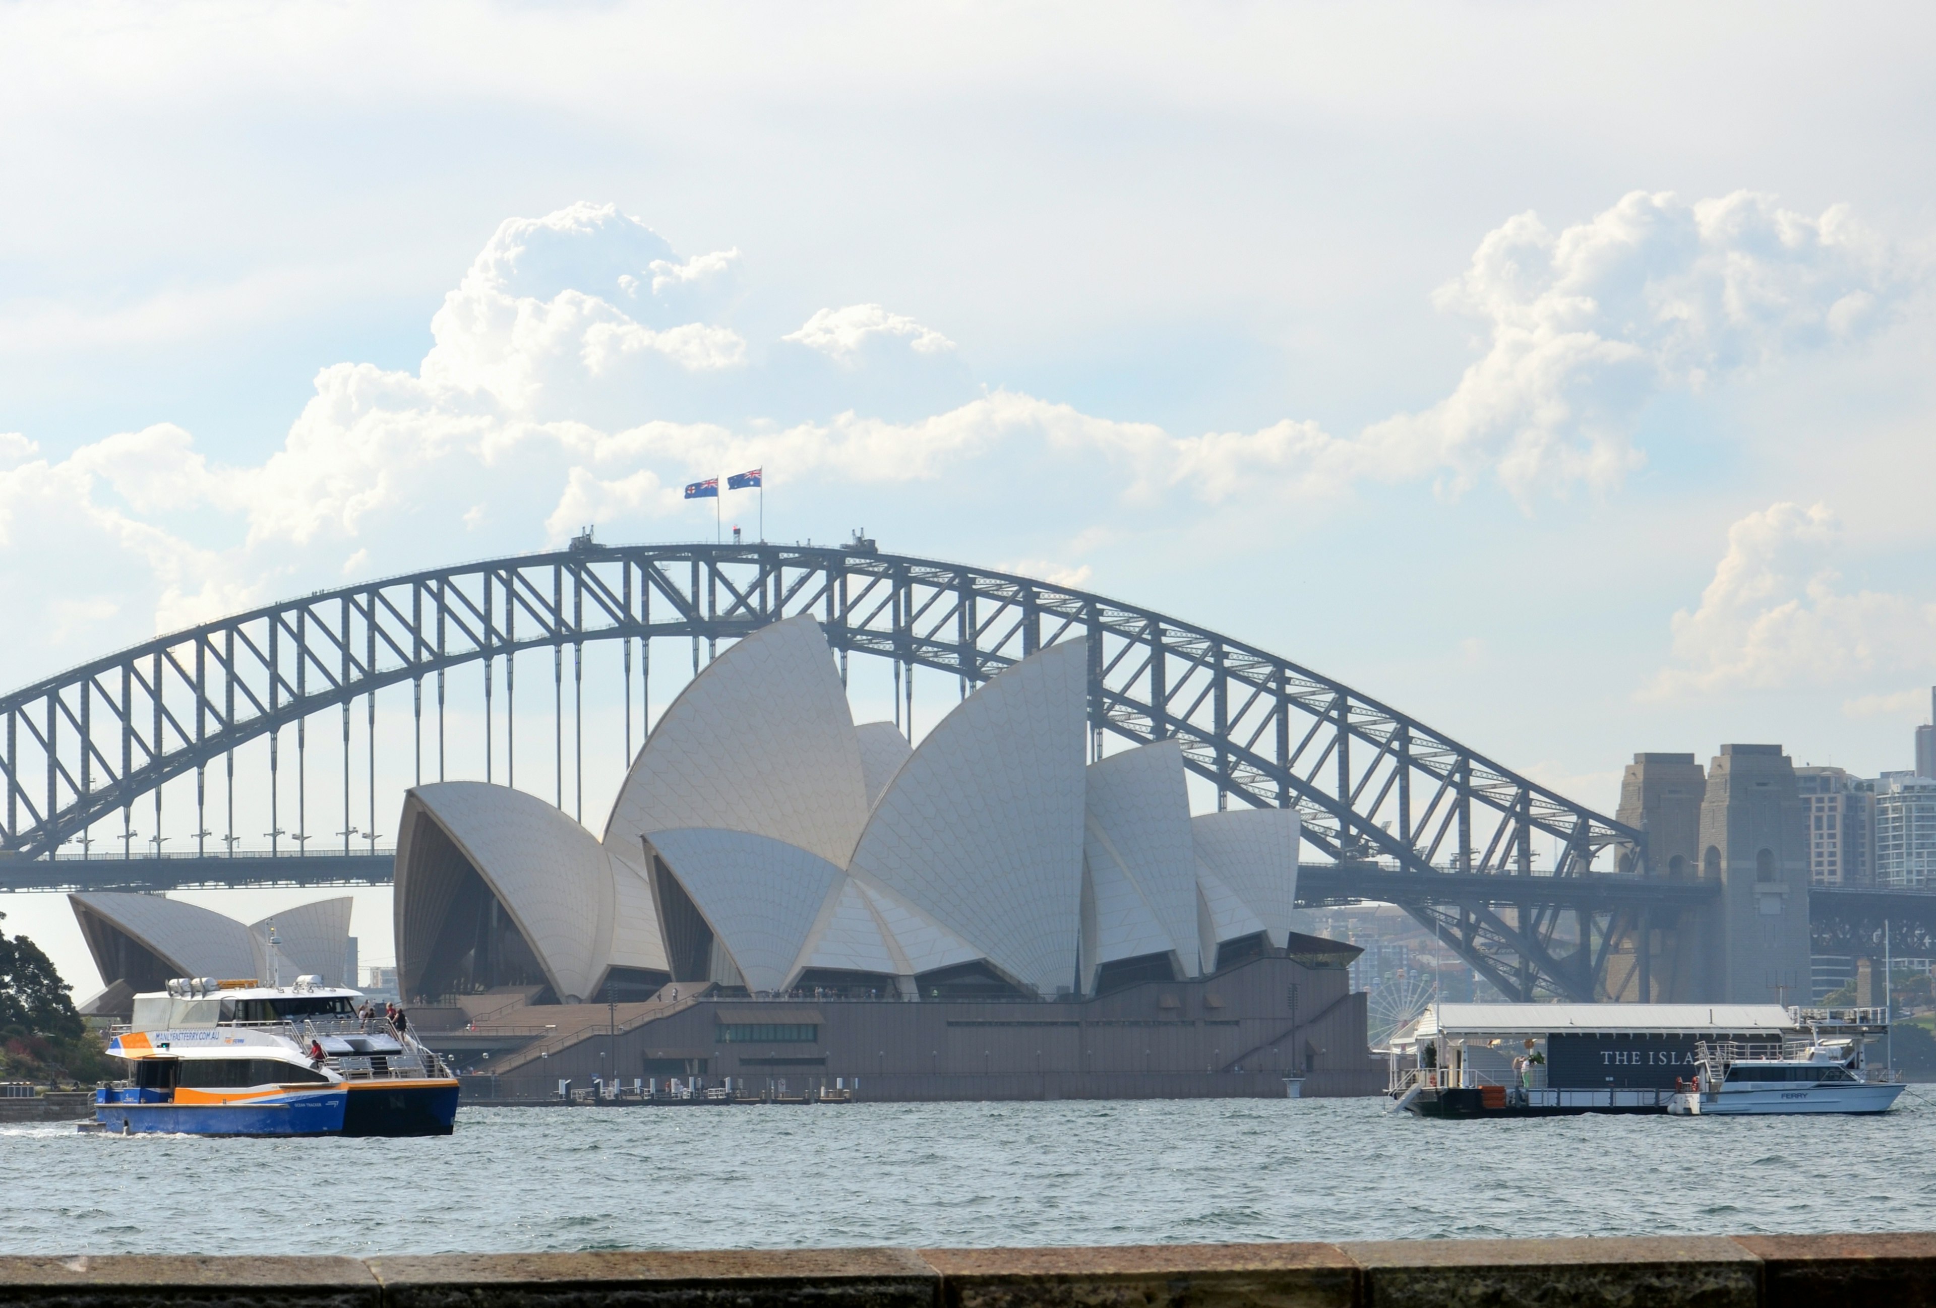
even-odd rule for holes
{"type": "MultiPolygon", "coordinates": [[[[265,886],[387,886],[395,853],[267,853],[165,855],[132,859],[0,859],[0,892],[68,890],[190,890],[265,886]]],[[[1297,904],[1467,906],[1467,907],[1694,907],[1719,888],[1700,880],[1655,877],[1500,877],[1497,873],[1419,873],[1378,863],[1301,863],[1297,904]]],[[[1816,886],[1810,917],[1820,929],[1868,936],[1882,921],[1907,933],[1897,952],[1911,952],[1924,936],[1936,938],[1936,890],[1888,890],[1868,886],[1816,886]]]]}

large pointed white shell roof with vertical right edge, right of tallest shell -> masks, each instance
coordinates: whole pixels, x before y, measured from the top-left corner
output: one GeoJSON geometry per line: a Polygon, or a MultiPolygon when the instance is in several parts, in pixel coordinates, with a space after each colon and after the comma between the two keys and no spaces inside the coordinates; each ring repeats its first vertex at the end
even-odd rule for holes
{"type": "Polygon", "coordinates": [[[1071,985],[1088,658],[1053,644],[962,700],[894,774],[852,869],[1044,993],[1071,985]]]}

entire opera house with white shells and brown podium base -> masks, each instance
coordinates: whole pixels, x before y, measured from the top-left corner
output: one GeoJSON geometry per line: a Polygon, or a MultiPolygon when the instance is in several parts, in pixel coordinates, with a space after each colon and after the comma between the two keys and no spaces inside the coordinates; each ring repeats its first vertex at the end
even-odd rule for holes
{"type": "Polygon", "coordinates": [[[774,623],[666,708],[598,836],[503,786],[410,789],[399,989],[515,1093],[1375,1089],[1355,950],[1291,931],[1295,813],[1193,817],[1173,741],[1090,762],[1086,724],[1065,642],[910,747],[854,724],[811,617],[774,623]]]}

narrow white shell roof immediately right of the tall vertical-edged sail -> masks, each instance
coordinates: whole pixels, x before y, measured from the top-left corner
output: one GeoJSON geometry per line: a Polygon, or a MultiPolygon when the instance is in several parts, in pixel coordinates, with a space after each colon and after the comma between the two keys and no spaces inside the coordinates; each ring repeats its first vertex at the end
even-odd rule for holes
{"type": "Polygon", "coordinates": [[[1092,762],[1084,782],[1096,962],[1175,950],[1195,971],[1196,846],[1183,747],[1127,749],[1092,762]]]}

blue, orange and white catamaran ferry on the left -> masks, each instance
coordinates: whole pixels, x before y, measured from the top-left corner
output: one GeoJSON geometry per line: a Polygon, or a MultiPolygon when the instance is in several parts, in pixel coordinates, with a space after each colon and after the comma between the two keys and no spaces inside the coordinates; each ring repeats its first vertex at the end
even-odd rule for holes
{"type": "Polygon", "coordinates": [[[360,991],[186,977],[136,995],[108,1053],[126,1082],[95,1091],[95,1122],[122,1134],[447,1136],[457,1078],[360,991]]]}

